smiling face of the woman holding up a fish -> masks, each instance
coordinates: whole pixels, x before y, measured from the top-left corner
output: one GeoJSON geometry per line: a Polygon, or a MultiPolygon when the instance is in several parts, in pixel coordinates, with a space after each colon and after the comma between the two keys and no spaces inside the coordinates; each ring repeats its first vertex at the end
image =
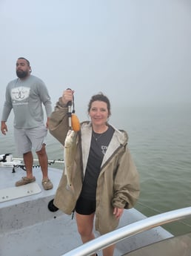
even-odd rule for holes
{"type": "Polygon", "coordinates": [[[105,125],[109,116],[107,103],[98,100],[92,102],[89,114],[93,125],[105,125]]]}

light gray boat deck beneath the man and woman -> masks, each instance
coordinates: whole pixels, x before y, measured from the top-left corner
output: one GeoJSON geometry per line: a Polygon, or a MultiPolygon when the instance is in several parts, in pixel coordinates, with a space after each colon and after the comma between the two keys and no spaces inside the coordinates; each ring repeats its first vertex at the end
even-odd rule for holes
{"type": "MultiPolygon", "coordinates": [[[[54,198],[61,173],[61,170],[49,167],[49,176],[54,187],[44,191],[41,186],[41,169],[33,168],[36,185],[40,191],[0,203],[0,255],[60,256],[81,245],[76,221],[59,210],[53,212],[47,207],[54,198]]],[[[23,176],[25,171],[21,168],[16,168],[16,172],[12,173],[12,168],[1,167],[0,197],[4,189],[19,189],[20,187],[14,185],[23,176]]],[[[135,209],[125,210],[119,227],[144,218],[145,216],[135,209]]],[[[98,236],[97,232],[96,236],[98,236]]],[[[172,234],[161,227],[137,234],[118,242],[115,256],[124,255],[167,237],[172,237],[172,234]]],[[[98,255],[101,255],[101,252],[98,252],[98,255]]]]}

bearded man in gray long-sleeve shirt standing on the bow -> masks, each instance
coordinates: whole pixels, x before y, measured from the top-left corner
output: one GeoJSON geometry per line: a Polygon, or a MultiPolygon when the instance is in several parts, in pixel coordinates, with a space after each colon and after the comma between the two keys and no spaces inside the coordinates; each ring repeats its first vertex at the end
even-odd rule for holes
{"type": "Polygon", "coordinates": [[[45,190],[53,188],[48,177],[48,159],[44,139],[47,136],[48,119],[52,112],[50,96],[46,85],[36,76],[30,74],[30,62],[21,57],[16,62],[17,79],[11,81],[6,88],[4,108],[1,117],[1,133],[7,133],[7,119],[13,108],[14,137],[19,154],[23,154],[27,177],[22,177],[16,186],[33,183],[33,153],[36,151],[42,171],[42,186],[45,190]],[[46,127],[42,103],[47,114],[46,127]]]}

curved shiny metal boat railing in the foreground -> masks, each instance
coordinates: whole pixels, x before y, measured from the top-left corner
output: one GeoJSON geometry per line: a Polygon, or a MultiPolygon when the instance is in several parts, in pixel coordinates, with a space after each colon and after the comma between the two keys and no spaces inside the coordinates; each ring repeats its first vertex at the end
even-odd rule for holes
{"type": "Polygon", "coordinates": [[[88,243],[84,243],[78,248],[71,250],[61,256],[89,256],[93,253],[104,249],[114,243],[118,243],[127,237],[131,237],[135,234],[153,229],[157,226],[161,226],[167,223],[171,223],[175,220],[181,220],[191,216],[191,207],[177,209],[173,211],[167,211],[165,213],[157,214],[152,217],[147,217],[144,220],[138,220],[135,223],[116,229],[113,232],[101,235],[88,243]]]}

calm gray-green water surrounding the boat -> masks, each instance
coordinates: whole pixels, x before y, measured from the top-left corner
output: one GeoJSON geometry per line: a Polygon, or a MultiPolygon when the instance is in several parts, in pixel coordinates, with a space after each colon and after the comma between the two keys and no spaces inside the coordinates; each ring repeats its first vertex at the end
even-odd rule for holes
{"type": "MultiPolygon", "coordinates": [[[[129,147],[141,179],[135,208],[147,216],[191,204],[191,106],[113,108],[110,122],[129,134],[129,147]]],[[[9,133],[0,137],[0,154],[16,155],[12,117],[9,133]]],[[[80,116],[78,116],[80,117],[80,116]]],[[[47,136],[50,160],[63,160],[63,148],[47,136]]],[[[56,165],[62,168],[62,165],[56,165]]],[[[191,218],[164,226],[173,234],[191,231],[191,218]]]]}

